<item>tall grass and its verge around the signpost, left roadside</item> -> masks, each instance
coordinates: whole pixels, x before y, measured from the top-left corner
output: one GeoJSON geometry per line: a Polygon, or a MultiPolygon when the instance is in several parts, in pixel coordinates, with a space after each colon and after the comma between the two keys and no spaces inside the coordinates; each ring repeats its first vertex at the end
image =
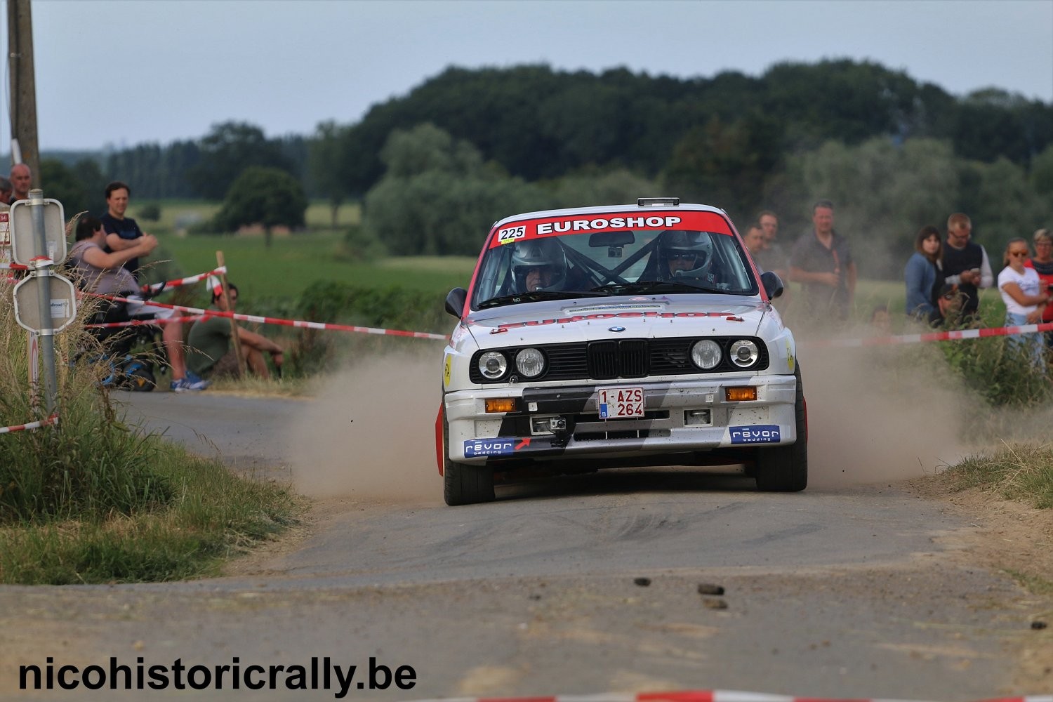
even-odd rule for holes
{"type": "MultiPolygon", "coordinates": [[[[60,424],[0,435],[0,582],[211,573],[295,519],[285,490],[235,477],[122,421],[99,386],[108,367],[72,363],[98,350],[80,324],[55,345],[60,424]]],[[[26,333],[15,322],[11,285],[0,283],[0,426],[44,418],[27,374],[26,333]]]]}

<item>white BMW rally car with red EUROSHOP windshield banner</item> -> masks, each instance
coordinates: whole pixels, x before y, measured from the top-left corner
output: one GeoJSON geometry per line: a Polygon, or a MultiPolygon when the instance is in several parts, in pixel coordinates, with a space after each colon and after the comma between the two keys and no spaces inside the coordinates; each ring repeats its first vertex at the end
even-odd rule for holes
{"type": "Polygon", "coordinates": [[[793,335],[728,215],[676,198],[508,217],[445,348],[436,453],[448,504],[520,475],[742,464],[808,483],[793,335]]]}

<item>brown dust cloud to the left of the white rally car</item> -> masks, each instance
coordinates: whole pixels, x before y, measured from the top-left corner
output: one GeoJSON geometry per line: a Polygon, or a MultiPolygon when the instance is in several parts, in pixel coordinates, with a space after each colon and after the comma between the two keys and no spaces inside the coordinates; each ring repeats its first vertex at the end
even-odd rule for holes
{"type": "Polygon", "coordinates": [[[365,358],[326,378],[294,420],[293,483],[313,498],[441,502],[435,416],[441,354],[365,358]]]}

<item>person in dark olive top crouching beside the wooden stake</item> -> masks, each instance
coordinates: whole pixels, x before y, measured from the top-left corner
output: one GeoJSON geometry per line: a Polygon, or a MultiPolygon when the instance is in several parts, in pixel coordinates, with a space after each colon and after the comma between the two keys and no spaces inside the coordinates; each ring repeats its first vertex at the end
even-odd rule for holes
{"type": "MultiPolygon", "coordinates": [[[[238,286],[234,283],[226,284],[226,295],[231,299],[231,306],[227,307],[222,294],[213,290],[212,307],[221,312],[234,312],[234,306],[238,303],[238,286]]],[[[192,373],[202,378],[220,378],[223,376],[237,377],[240,375],[238,368],[237,354],[231,347],[231,337],[233,336],[231,320],[226,317],[205,317],[194,322],[191,326],[187,345],[190,354],[186,357],[186,365],[192,373]]],[[[271,354],[274,365],[281,370],[284,360],[282,347],[271,341],[266,337],[240,326],[238,329],[238,341],[241,342],[241,349],[244,352],[249,369],[260,378],[270,378],[271,370],[266,366],[263,354],[271,354]]]]}

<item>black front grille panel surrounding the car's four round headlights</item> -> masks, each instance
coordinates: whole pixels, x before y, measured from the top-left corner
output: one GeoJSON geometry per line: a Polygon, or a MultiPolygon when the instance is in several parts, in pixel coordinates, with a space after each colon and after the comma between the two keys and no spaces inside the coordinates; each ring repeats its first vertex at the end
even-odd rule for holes
{"type": "MultiPolygon", "coordinates": [[[[756,337],[707,337],[723,352],[720,363],[712,370],[701,370],[691,362],[691,347],[700,337],[676,339],[611,339],[587,343],[539,345],[545,357],[545,370],[532,380],[613,380],[615,378],[647,378],[681,374],[729,373],[743,370],[731,362],[729,349],[739,339],[757,344],[760,357],[747,372],[768,367],[768,346],[756,337]]],[[[477,352],[472,358],[469,377],[473,383],[501,383],[516,375],[515,357],[520,347],[495,348],[509,359],[509,372],[497,380],[489,380],[479,373],[477,352]]],[[[520,379],[522,380],[522,379],[520,379]]]]}

